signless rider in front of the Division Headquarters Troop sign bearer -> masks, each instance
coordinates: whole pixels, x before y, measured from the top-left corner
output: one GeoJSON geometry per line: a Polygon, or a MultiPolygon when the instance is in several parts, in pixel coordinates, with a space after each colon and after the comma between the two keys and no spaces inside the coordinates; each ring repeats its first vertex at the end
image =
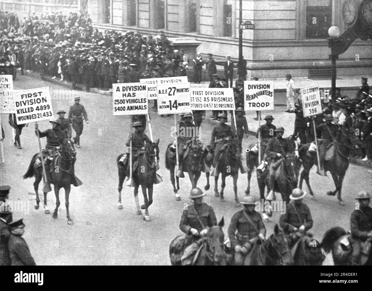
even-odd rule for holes
{"type": "Polygon", "coordinates": [[[291,154],[291,147],[289,141],[283,138],[284,128],[279,126],[275,129],[276,137],[272,138],[266,146],[265,154],[270,162],[269,166],[269,188],[270,192],[267,195],[267,200],[272,200],[274,196],[274,185],[275,185],[275,171],[274,165],[276,162],[285,158],[288,154],[291,154]],[[270,198],[269,198],[270,197],[270,198]]]}

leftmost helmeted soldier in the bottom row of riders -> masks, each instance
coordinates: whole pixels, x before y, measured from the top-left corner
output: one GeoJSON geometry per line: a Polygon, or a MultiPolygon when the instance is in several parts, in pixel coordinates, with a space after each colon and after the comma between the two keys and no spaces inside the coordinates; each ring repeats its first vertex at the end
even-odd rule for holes
{"type": "Polygon", "coordinates": [[[182,212],[180,230],[188,236],[186,240],[192,236],[193,242],[183,252],[183,261],[193,258],[192,255],[201,246],[201,237],[206,236],[212,226],[217,226],[217,218],[213,208],[203,203],[205,195],[206,193],[203,193],[200,188],[193,188],[189,195],[189,198],[193,200],[193,205],[187,206],[187,209],[182,212]]]}

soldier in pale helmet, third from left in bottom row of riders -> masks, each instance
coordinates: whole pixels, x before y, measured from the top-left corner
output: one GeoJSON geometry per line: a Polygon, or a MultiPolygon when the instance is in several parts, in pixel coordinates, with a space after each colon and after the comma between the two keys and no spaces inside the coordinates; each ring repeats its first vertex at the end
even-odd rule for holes
{"type": "MultiPolygon", "coordinates": [[[[289,198],[292,200],[288,204],[285,214],[280,215],[280,226],[283,229],[288,227],[288,234],[296,232],[305,233],[305,231],[312,228],[312,218],[309,207],[302,203],[302,199],[306,193],[299,188],[295,188],[289,198]]],[[[292,246],[296,242],[298,236],[292,236],[292,246]]]]}

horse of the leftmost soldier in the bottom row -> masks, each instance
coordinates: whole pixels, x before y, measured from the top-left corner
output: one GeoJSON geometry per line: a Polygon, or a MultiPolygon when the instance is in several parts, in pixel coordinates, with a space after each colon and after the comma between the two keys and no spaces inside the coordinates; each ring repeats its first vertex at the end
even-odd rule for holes
{"type": "MultiPolygon", "coordinates": [[[[226,253],[224,250],[224,218],[219,221],[218,226],[212,226],[206,237],[202,238],[202,245],[200,250],[196,252],[193,260],[193,266],[225,266],[226,253]]],[[[173,241],[172,241],[173,243],[173,241]]],[[[172,243],[170,245],[172,245],[172,243]]],[[[171,247],[169,252],[172,256],[171,247]]],[[[172,260],[171,260],[172,262],[172,260]]],[[[180,262],[172,265],[181,265],[180,262]]]]}

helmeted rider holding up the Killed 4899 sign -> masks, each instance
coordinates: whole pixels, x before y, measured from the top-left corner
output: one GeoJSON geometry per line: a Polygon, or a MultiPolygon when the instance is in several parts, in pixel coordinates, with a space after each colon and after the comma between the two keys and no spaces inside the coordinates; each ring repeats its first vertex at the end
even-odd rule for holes
{"type": "MultiPolygon", "coordinates": [[[[40,131],[39,125],[35,124],[35,134],[39,137],[47,137],[47,145],[45,149],[48,151],[49,156],[45,158],[45,166],[46,166],[46,173],[47,173],[47,181],[45,181],[44,190],[49,190],[45,192],[50,192],[52,189],[50,188],[50,175],[49,175],[49,166],[51,161],[53,160],[53,156],[59,149],[60,145],[63,141],[67,138],[67,135],[64,131],[60,128],[60,121],[58,118],[52,119],[49,121],[52,124],[52,129],[47,129],[46,131],[40,131]]],[[[40,157],[42,159],[42,157],[40,157]]]]}

